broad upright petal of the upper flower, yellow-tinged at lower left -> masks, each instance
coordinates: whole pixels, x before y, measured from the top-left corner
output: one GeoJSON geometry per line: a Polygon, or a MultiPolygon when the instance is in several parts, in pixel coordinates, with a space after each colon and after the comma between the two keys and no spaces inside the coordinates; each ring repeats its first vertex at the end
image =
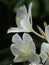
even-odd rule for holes
{"type": "Polygon", "coordinates": [[[21,27],[20,22],[22,19],[24,19],[25,16],[27,16],[27,9],[25,5],[23,5],[17,10],[16,24],[18,27],[21,27]]]}

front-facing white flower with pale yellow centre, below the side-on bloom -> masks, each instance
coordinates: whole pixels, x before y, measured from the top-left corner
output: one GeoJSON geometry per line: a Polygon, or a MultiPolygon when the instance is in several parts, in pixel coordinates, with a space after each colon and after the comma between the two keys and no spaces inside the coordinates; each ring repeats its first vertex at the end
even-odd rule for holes
{"type": "Polygon", "coordinates": [[[15,56],[14,62],[40,62],[38,54],[36,54],[35,44],[31,36],[27,33],[23,34],[23,39],[18,34],[12,37],[11,52],[15,56]]]}

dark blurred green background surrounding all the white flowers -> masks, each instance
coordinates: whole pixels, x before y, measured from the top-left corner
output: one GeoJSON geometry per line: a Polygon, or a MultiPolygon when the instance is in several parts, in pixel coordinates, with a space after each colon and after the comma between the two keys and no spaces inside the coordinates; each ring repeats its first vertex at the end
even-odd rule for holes
{"type": "MultiPolygon", "coordinates": [[[[0,65],[20,65],[12,62],[13,55],[10,51],[10,45],[12,44],[11,38],[13,34],[7,34],[7,30],[10,27],[16,27],[15,16],[17,9],[25,4],[28,8],[29,3],[32,2],[32,19],[33,28],[37,31],[36,25],[39,25],[43,30],[43,22],[46,21],[49,24],[49,0],[0,0],[0,65]]],[[[22,36],[23,33],[19,33],[22,36]]],[[[43,39],[36,35],[29,33],[36,43],[37,53],[40,52],[40,45],[43,39]]],[[[24,63],[21,63],[23,65],[24,63]]],[[[27,65],[27,62],[26,64],[27,65]]]]}

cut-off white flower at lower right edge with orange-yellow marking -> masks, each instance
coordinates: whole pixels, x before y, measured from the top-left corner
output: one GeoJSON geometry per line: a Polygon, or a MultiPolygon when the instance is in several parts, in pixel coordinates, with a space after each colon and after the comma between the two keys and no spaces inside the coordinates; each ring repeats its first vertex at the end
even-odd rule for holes
{"type": "Polygon", "coordinates": [[[41,54],[40,54],[43,63],[47,60],[49,56],[48,53],[49,53],[49,44],[43,42],[41,45],[41,54]]]}

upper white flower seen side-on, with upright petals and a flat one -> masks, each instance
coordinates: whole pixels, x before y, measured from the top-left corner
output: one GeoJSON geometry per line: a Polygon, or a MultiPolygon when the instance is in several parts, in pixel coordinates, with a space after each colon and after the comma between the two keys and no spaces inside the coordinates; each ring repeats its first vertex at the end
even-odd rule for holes
{"type": "Polygon", "coordinates": [[[28,12],[25,5],[17,10],[16,24],[18,27],[11,27],[7,33],[15,32],[31,32],[32,30],[32,17],[31,17],[32,3],[29,4],[28,12]]]}

